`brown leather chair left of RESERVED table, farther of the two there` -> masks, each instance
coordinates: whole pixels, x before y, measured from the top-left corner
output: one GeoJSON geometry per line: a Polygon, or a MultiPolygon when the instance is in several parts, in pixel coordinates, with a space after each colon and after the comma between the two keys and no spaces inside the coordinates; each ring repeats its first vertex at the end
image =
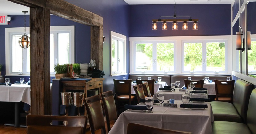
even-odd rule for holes
{"type": "Polygon", "coordinates": [[[103,108],[105,111],[106,122],[108,127],[108,132],[110,131],[110,121],[117,120],[116,104],[113,92],[107,91],[100,93],[100,98],[103,103],[103,108]]]}

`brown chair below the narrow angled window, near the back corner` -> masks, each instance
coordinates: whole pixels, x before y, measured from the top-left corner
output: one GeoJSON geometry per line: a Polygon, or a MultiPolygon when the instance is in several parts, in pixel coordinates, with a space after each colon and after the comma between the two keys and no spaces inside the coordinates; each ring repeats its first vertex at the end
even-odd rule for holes
{"type": "Polygon", "coordinates": [[[114,88],[116,94],[116,109],[119,108],[118,102],[119,101],[128,101],[131,104],[134,101],[135,96],[131,95],[131,88],[132,88],[132,79],[128,80],[117,80],[113,79],[114,81],[114,88]]]}

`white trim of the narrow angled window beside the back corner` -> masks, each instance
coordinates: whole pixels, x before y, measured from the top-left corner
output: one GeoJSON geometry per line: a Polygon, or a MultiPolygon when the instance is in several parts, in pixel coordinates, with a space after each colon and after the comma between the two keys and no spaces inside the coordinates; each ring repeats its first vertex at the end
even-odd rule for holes
{"type": "Polygon", "coordinates": [[[110,31],[110,76],[120,76],[120,75],[127,75],[127,68],[126,68],[126,36],[125,35],[122,35],[120,33],[116,33],[116,32],[113,32],[113,31],[110,31]],[[113,74],[112,73],[112,66],[111,66],[111,63],[112,63],[112,38],[116,38],[116,39],[121,39],[124,41],[124,71],[125,73],[118,73],[118,74],[113,74]]]}

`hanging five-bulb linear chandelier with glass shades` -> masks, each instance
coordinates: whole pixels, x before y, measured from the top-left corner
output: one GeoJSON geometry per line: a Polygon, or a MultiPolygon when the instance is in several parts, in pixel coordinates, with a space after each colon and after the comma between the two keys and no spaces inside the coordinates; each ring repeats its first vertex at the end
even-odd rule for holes
{"type": "Polygon", "coordinates": [[[172,30],[178,30],[178,23],[177,22],[183,22],[182,24],[182,30],[188,30],[188,22],[193,22],[192,29],[197,30],[198,29],[198,19],[191,19],[190,16],[177,16],[176,15],[176,0],[174,0],[174,15],[173,16],[160,16],[159,19],[152,19],[152,30],[157,30],[157,22],[162,22],[162,29],[167,30],[167,22],[173,22],[172,23],[172,30]],[[161,19],[161,17],[189,17],[189,19],[161,19]]]}

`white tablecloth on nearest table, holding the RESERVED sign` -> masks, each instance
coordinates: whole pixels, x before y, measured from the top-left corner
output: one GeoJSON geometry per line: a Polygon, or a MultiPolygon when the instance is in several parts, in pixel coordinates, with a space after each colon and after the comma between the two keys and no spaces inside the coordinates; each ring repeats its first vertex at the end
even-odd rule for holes
{"type": "MultiPolygon", "coordinates": [[[[214,121],[209,102],[207,109],[180,108],[181,100],[175,101],[178,108],[153,105],[153,113],[126,110],[118,117],[109,134],[126,134],[128,123],[138,123],[157,128],[188,131],[193,134],[212,134],[211,122],[214,121]]],[[[195,104],[189,102],[189,104],[195,104]]],[[[140,103],[140,105],[143,105],[140,103]]]]}

